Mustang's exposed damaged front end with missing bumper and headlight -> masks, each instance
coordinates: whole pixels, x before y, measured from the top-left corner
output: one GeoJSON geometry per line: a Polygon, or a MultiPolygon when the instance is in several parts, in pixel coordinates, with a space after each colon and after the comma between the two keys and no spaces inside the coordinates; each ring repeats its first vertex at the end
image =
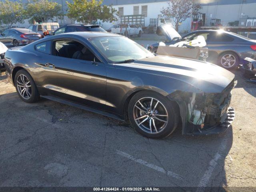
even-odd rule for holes
{"type": "Polygon", "coordinates": [[[232,81],[221,93],[175,92],[168,97],[180,107],[182,134],[210,135],[225,132],[234,120],[230,107],[232,81]]]}

